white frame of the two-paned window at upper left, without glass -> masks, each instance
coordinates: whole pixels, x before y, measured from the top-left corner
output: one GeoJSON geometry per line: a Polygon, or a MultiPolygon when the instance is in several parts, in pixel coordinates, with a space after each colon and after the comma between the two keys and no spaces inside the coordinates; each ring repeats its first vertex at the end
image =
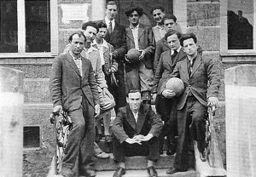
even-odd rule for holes
{"type": "Polygon", "coordinates": [[[49,0],[50,16],[50,52],[26,52],[25,0],[17,0],[18,52],[0,53],[0,58],[41,58],[58,54],[58,1],[49,0]]]}

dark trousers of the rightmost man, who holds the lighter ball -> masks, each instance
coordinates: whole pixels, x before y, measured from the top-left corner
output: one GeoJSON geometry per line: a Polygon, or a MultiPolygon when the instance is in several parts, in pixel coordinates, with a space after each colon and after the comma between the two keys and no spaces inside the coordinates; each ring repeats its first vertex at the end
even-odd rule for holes
{"type": "Polygon", "coordinates": [[[193,140],[197,141],[199,151],[206,146],[206,115],[207,107],[195,99],[188,97],[182,110],[177,111],[177,154],[174,168],[194,168],[195,155],[193,140]]]}

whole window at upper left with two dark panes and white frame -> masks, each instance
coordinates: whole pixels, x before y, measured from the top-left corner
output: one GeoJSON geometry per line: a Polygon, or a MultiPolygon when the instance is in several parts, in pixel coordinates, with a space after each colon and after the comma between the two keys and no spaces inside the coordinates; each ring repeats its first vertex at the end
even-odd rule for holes
{"type": "Polygon", "coordinates": [[[0,54],[57,54],[57,1],[0,0],[0,54]]]}

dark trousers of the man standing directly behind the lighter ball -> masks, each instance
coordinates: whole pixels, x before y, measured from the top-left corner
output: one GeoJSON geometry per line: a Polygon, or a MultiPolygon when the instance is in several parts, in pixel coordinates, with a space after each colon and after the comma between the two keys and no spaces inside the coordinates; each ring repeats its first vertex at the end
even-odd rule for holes
{"type": "Polygon", "coordinates": [[[157,94],[155,109],[164,121],[164,127],[159,136],[160,150],[163,149],[165,136],[167,137],[168,150],[175,151],[175,136],[177,135],[177,99],[166,99],[157,94]]]}

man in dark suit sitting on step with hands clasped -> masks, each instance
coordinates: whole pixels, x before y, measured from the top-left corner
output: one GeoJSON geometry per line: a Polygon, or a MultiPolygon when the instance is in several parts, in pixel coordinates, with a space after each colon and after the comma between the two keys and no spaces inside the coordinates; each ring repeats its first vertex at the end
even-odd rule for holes
{"type": "Polygon", "coordinates": [[[148,156],[148,174],[157,177],[154,163],[159,159],[158,136],[163,127],[159,115],[148,104],[142,105],[141,92],[131,89],[127,106],[119,108],[113,121],[113,158],[119,163],[113,177],[125,174],[125,157],[148,156]]]}

